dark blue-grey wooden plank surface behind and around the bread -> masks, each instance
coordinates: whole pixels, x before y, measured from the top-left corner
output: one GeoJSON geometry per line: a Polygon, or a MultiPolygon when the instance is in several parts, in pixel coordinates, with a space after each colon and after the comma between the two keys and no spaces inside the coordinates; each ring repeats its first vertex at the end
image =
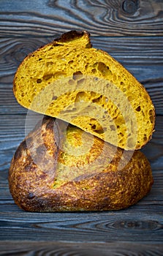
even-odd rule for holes
{"type": "Polygon", "coordinates": [[[0,255],[163,255],[163,1],[0,1],[0,255]],[[87,30],[95,48],[124,64],[151,95],[156,132],[143,148],[154,184],[122,211],[29,213],[7,175],[24,138],[26,110],[12,94],[20,61],[58,35],[87,30]]]}

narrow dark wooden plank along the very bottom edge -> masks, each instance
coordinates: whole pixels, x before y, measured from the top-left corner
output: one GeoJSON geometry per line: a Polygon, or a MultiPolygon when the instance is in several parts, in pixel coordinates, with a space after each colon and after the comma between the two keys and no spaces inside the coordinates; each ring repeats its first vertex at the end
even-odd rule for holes
{"type": "Polygon", "coordinates": [[[66,243],[34,241],[5,241],[0,242],[0,255],[86,255],[86,256],[161,256],[160,244],[134,243],[66,243]]]}

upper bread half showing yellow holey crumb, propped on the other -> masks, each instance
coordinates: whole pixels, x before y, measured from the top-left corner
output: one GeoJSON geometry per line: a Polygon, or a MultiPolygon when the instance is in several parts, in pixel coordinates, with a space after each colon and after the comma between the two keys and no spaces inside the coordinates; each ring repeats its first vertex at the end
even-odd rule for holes
{"type": "Polygon", "coordinates": [[[61,118],[126,150],[142,148],[155,112],[145,88],[86,31],[70,31],[29,54],[13,91],[23,107],[61,118]]]}

